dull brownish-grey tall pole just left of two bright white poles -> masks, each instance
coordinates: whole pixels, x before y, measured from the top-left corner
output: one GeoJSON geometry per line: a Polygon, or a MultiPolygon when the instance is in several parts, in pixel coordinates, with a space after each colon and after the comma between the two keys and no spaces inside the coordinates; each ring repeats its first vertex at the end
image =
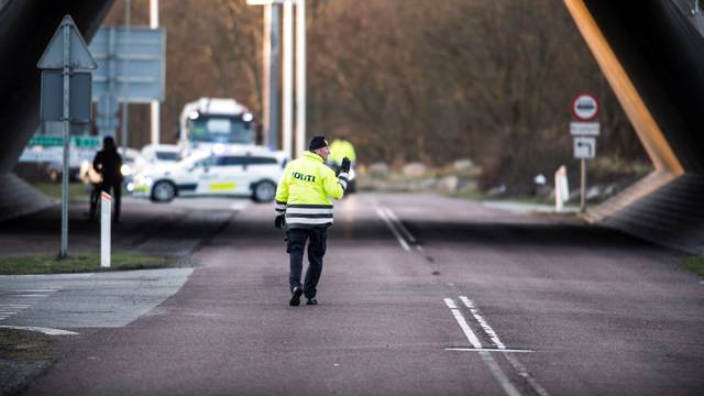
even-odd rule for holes
{"type": "Polygon", "coordinates": [[[268,79],[268,145],[272,148],[278,147],[279,133],[280,133],[280,107],[279,107],[279,92],[278,92],[278,79],[280,78],[280,64],[279,64],[279,43],[282,36],[280,21],[282,21],[282,8],[277,4],[272,4],[272,21],[271,21],[271,53],[270,53],[270,79],[268,79]]]}

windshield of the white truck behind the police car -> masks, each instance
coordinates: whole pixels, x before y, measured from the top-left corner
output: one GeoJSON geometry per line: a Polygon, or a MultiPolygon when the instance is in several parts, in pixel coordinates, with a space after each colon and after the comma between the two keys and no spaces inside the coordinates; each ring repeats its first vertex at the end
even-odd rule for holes
{"type": "Polygon", "coordinates": [[[204,143],[254,143],[251,123],[239,118],[201,116],[190,121],[190,141],[204,143]]]}

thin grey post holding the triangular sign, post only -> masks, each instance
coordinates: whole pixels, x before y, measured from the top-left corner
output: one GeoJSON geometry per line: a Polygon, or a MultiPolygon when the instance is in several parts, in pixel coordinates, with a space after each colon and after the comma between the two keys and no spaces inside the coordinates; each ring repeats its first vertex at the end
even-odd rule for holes
{"type": "Polygon", "coordinates": [[[68,256],[68,161],[70,160],[70,123],[68,113],[70,100],[70,26],[64,24],[62,30],[64,33],[64,68],[62,70],[64,77],[64,167],[62,172],[62,246],[58,251],[59,260],[68,256]]]}

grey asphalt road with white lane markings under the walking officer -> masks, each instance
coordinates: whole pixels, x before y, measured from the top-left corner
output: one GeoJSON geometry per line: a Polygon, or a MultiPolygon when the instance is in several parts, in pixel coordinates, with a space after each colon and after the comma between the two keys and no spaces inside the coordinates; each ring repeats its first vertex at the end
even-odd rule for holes
{"type": "MultiPolygon", "coordinates": [[[[168,243],[198,229],[189,213],[168,243]]],[[[289,307],[272,223],[270,206],[240,208],[175,295],[62,338],[28,394],[704,391],[704,285],[671,251],[574,219],[356,195],[336,206],[320,304],[289,307]]]]}

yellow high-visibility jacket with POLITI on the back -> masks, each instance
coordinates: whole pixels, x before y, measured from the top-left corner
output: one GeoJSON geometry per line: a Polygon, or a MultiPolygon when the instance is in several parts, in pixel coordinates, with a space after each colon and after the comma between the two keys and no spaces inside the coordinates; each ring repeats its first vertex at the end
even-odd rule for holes
{"type": "Polygon", "coordinates": [[[314,228],[332,224],[332,202],[348,188],[349,175],[339,176],[316,153],[304,152],[284,169],[276,188],[276,211],[286,212],[288,228],[314,228]]]}

